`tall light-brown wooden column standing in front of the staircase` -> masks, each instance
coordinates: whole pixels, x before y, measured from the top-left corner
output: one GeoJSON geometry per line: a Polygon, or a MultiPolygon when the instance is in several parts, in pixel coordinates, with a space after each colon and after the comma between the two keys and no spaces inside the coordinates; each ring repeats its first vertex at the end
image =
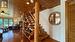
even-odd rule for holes
{"type": "Polygon", "coordinates": [[[34,42],[39,42],[39,1],[35,2],[34,42]]]}

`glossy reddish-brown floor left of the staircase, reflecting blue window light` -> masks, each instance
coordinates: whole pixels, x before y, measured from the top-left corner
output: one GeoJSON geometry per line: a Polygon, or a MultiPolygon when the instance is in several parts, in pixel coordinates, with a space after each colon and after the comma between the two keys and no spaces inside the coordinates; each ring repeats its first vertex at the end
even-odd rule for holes
{"type": "Polygon", "coordinates": [[[26,38],[23,38],[20,31],[8,31],[3,33],[3,39],[0,42],[27,42],[26,38]]]}

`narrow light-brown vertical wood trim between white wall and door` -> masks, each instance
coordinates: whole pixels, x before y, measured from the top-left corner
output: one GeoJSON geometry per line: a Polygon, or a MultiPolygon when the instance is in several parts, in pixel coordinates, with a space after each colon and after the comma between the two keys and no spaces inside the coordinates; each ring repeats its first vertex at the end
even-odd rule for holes
{"type": "Polygon", "coordinates": [[[68,30],[68,26],[69,26],[69,23],[68,23],[68,2],[66,1],[65,2],[65,42],[69,42],[68,41],[68,37],[69,37],[69,30],[68,30]]]}

